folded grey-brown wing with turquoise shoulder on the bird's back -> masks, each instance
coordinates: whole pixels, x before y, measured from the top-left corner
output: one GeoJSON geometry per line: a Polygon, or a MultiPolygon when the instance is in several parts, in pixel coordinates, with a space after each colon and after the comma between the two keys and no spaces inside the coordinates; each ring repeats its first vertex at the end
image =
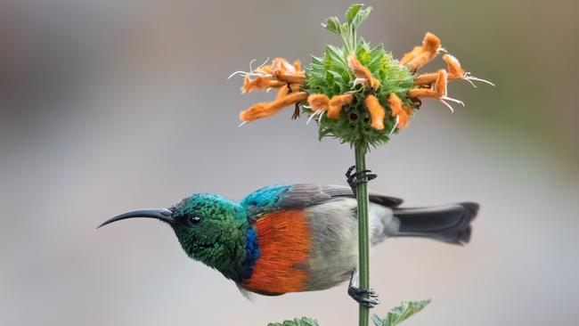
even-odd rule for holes
{"type": "MultiPolygon", "coordinates": [[[[281,184],[268,186],[249,194],[241,200],[241,206],[246,208],[249,216],[257,219],[266,213],[307,208],[341,197],[353,198],[354,194],[350,188],[341,185],[281,184]]],[[[370,201],[389,208],[395,208],[403,202],[394,197],[375,193],[370,194],[370,201]]]]}

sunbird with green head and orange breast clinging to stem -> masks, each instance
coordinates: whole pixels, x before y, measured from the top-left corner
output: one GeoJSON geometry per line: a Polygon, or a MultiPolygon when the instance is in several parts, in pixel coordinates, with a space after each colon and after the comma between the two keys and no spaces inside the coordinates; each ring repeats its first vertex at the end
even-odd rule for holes
{"type": "MultiPolygon", "coordinates": [[[[369,194],[371,246],[393,237],[469,242],[475,202],[401,208],[403,200],[369,194]]],[[[243,294],[278,296],[330,289],[350,280],[347,293],[363,306],[379,304],[358,278],[357,201],[352,188],[277,184],[236,202],[195,193],[169,208],[141,209],[99,225],[135,217],[168,224],[188,257],[232,280],[243,294]]]]}

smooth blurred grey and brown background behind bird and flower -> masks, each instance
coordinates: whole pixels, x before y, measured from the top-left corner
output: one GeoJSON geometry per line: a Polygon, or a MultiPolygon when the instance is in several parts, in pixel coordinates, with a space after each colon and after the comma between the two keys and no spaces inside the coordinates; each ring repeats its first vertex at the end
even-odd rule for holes
{"type": "MultiPolygon", "coordinates": [[[[241,296],[151,220],[94,226],[192,192],[239,200],[272,183],[345,183],[347,145],[319,143],[290,109],[238,128],[232,71],[309,63],[349,1],[0,2],[0,324],[353,325],[347,285],[241,296]]],[[[361,34],[395,57],[434,32],[474,76],[456,114],[425,101],[372,151],[371,189],[408,206],[477,200],[468,246],[387,240],[371,259],[384,315],[433,297],[406,325],[567,325],[579,313],[579,5],[572,0],[367,2],[361,34]]],[[[438,60],[425,71],[442,67],[438,60]]]]}

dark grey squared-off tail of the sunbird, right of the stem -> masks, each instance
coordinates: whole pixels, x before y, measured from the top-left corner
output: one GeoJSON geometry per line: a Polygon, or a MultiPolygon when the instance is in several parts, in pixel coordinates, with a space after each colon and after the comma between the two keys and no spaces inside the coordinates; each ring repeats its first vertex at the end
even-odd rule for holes
{"type": "Polygon", "coordinates": [[[478,204],[463,202],[431,208],[394,208],[400,220],[397,236],[426,237],[464,244],[470,240],[470,222],[477,216],[478,204]]]}

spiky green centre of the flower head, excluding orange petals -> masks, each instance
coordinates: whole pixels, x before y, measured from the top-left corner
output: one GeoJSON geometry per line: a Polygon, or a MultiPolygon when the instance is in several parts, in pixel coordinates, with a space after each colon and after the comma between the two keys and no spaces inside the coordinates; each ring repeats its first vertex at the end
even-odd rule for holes
{"type": "MultiPolygon", "coordinates": [[[[362,144],[376,147],[387,143],[396,118],[391,116],[387,105],[387,97],[395,93],[404,105],[417,109],[415,103],[408,99],[408,91],[414,87],[412,72],[400,65],[391,53],[384,50],[383,45],[372,47],[362,37],[356,38],[356,30],[363,20],[370,14],[371,7],[362,9],[361,4],[354,4],[347,11],[347,22],[340,25],[338,18],[326,20],[326,29],[338,34],[342,38],[342,47],[327,45],[322,57],[312,57],[312,64],[306,68],[306,85],[308,94],[326,94],[328,97],[352,92],[355,101],[346,105],[338,119],[323,116],[319,120],[319,136],[334,137],[342,143],[362,144]],[[373,77],[379,79],[377,91],[354,85],[355,76],[347,65],[347,56],[355,53],[358,60],[368,69],[373,77]],[[376,94],[380,104],[386,110],[384,129],[377,130],[370,125],[370,115],[366,110],[364,99],[368,94],[376,94]]],[[[303,108],[307,114],[313,114],[310,109],[303,108]]]]}

